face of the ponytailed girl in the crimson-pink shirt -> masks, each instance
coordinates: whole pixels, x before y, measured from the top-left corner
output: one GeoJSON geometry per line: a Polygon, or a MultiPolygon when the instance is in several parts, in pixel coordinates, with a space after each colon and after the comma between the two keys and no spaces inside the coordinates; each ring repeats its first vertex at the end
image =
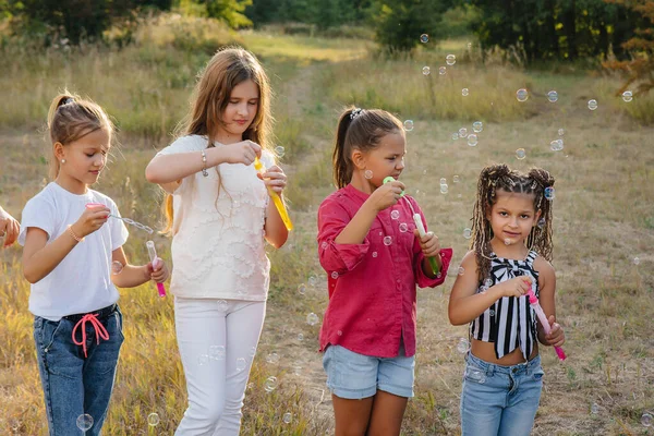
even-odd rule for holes
{"type": "Polygon", "coordinates": [[[388,133],[382,137],[377,148],[362,154],[363,160],[358,167],[372,175],[366,179],[373,186],[379,187],[388,175],[398,179],[402,173],[405,147],[407,142],[401,133],[388,133]]]}

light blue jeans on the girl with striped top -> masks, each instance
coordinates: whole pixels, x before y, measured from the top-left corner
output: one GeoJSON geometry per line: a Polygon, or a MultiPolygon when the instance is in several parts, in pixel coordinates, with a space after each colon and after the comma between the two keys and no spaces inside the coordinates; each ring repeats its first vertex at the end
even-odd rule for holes
{"type": "Polygon", "coordinates": [[[542,388],[540,355],[501,366],[468,353],[461,392],[462,436],[529,436],[542,388]]]}

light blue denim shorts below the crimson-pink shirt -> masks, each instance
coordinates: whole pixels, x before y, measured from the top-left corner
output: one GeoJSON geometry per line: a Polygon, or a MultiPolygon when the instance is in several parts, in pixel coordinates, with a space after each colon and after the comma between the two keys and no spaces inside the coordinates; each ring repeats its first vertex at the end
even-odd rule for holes
{"type": "Polygon", "coordinates": [[[341,346],[329,346],[323,356],[327,387],[331,393],[349,400],[373,397],[384,390],[398,397],[413,397],[415,358],[374,358],[341,346]]]}

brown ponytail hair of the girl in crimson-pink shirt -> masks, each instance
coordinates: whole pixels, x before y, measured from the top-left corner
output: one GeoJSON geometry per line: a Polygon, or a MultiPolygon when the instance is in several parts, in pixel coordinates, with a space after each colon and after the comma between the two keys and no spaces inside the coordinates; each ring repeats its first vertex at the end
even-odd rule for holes
{"type": "Polygon", "coordinates": [[[352,150],[370,152],[379,146],[379,141],[389,133],[404,135],[402,123],[392,113],[382,109],[358,109],[350,107],[341,113],[336,130],[336,144],[331,155],[334,183],[346,187],[352,180],[354,162],[352,150]]]}

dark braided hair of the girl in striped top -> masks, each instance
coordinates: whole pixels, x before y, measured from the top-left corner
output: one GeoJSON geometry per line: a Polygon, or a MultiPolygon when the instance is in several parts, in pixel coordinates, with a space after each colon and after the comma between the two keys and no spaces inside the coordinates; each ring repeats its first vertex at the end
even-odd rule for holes
{"type": "Polygon", "coordinates": [[[470,243],[470,250],[475,253],[480,281],[484,280],[491,271],[493,229],[486,217],[496,202],[497,190],[534,195],[534,209],[541,210],[541,218],[537,226],[532,228],[526,239],[526,246],[552,262],[552,202],[545,198],[545,189],[553,185],[554,177],[541,168],[532,168],[528,173],[523,173],[500,164],[485,167],[482,170],[472,213],[472,241],[470,243]]]}

